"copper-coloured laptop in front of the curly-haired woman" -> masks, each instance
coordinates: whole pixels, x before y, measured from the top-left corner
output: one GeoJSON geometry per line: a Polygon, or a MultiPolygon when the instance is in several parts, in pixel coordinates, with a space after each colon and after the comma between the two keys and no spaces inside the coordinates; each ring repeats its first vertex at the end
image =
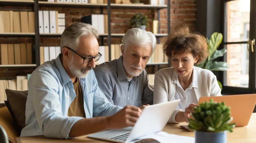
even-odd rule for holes
{"type": "Polygon", "coordinates": [[[204,101],[209,101],[210,99],[217,102],[224,101],[225,104],[230,107],[231,117],[233,117],[231,123],[236,123],[236,127],[248,125],[256,104],[256,94],[200,97],[198,104],[204,101]]]}

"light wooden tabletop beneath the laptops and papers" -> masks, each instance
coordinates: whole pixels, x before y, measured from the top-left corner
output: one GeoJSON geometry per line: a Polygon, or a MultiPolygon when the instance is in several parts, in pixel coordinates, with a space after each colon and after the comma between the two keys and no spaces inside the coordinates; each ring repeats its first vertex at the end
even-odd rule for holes
{"type": "MultiPolygon", "coordinates": [[[[167,123],[164,132],[169,134],[177,134],[181,136],[192,136],[194,137],[194,132],[188,132],[182,128],[180,125],[185,125],[187,123],[181,124],[171,124],[167,123]]],[[[76,139],[52,139],[46,138],[44,136],[27,136],[27,137],[17,137],[18,143],[110,143],[108,141],[101,141],[96,139],[86,138],[86,136],[80,136],[76,139]]],[[[245,127],[236,127],[233,132],[227,133],[228,143],[256,143],[256,113],[252,113],[252,117],[245,127]]]]}

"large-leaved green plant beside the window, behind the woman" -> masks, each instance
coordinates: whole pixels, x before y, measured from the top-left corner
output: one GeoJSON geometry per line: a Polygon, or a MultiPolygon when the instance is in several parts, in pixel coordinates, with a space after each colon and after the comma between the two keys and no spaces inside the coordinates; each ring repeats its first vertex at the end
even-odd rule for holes
{"type": "MultiPolygon", "coordinates": [[[[200,68],[204,68],[204,69],[208,69],[211,71],[226,71],[228,70],[228,64],[227,62],[223,62],[223,61],[214,61],[214,59],[218,58],[218,57],[222,57],[226,52],[227,49],[222,48],[220,50],[217,50],[222,42],[223,39],[223,35],[221,33],[218,32],[214,32],[211,35],[211,39],[208,40],[208,57],[207,59],[205,59],[201,64],[198,64],[196,66],[200,67],[200,68]]],[[[222,90],[222,84],[220,83],[220,81],[218,81],[218,84],[220,86],[220,89],[222,90]]]]}

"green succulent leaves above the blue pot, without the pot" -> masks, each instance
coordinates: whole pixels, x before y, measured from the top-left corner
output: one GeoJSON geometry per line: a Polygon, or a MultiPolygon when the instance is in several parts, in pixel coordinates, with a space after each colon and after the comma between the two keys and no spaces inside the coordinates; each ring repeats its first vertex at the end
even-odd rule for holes
{"type": "Polygon", "coordinates": [[[218,103],[211,99],[209,102],[200,103],[193,108],[192,118],[189,119],[189,128],[201,132],[233,132],[235,123],[230,123],[230,108],[224,102],[218,103]]]}

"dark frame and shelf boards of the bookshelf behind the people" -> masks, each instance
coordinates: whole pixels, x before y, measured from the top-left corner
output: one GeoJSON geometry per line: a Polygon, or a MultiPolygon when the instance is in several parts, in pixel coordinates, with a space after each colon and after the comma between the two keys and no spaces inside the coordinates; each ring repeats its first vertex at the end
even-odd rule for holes
{"type": "MultiPolygon", "coordinates": [[[[108,15],[108,33],[99,34],[100,37],[107,37],[107,45],[109,47],[109,54],[111,53],[111,39],[113,37],[122,37],[124,33],[111,33],[111,10],[112,9],[150,9],[150,10],[157,10],[160,9],[167,9],[167,11],[170,11],[170,1],[167,1],[165,5],[150,5],[150,4],[114,4],[110,3],[110,0],[108,0],[107,4],[83,4],[83,3],[59,3],[59,2],[47,2],[47,1],[39,1],[39,0],[0,0],[0,4],[2,6],[15,6],[15,7],[31,7],[32,11],[35,13],[35,33],[0,33],[0,37],[22,37],[22,36],[29,36],[34,38],[33,44],[34,44],[34,64],[37,66],[40,65],[39,60],[39,47],[42,44],[41,38],[43,37],[61,37],[61,33],[39,33],[38,32],[38,11],[41,9],[41,7],[51,7],[53,9],[57,9],[59,7],[72,7],[72,8],[85,8],[85,9],[94,9],[98,8],[100,9],[101,13],[103,13],[103,9],[107,11],[108,15]]],[[[5,10],[5,9],[0,9],[5,10]]],[[[157,19],[159,20],[159,12],[157,13],[157,19]]],[[[167,12],[167,33],[159,33],[155,34],[157,38],[164,37],[168,33],[170,33],[170,13],[167,12]]],[[[103,38],[101,38],[101,43],[103,42],[103,38]]],[[[102,44],[103,45],[103,44],[102,44]]],[[[110,57],[110,55],[109,55],[110,57]]],[[[168,63],[159,63],[159,64],[168,64],[168,63]]],[[[25,65],[26,66],[26,65],[25,65]]],[[[31,65],[27,65],[31,66],[31,65]]],[[[3,65],[0,67],[4,67],[3,65]]],[[[6,66],[11,67],[11,65],[6,66]]],[[[14,66],[15,67],[15,66],[14,66]]]]}

